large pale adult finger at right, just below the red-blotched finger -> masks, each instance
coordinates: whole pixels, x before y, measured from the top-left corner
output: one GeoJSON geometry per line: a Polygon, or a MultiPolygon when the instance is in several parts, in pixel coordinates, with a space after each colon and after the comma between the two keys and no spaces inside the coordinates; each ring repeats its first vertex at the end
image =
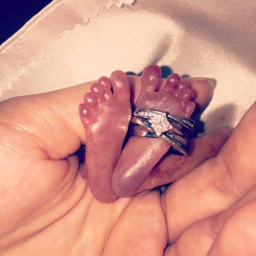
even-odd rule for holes
{"type": "Polygon", "coordinates": [[[256,103],[215,158],[175,182],[162,195],[169,242],[188,226],[229,208],[256,182],[256,103]]]}

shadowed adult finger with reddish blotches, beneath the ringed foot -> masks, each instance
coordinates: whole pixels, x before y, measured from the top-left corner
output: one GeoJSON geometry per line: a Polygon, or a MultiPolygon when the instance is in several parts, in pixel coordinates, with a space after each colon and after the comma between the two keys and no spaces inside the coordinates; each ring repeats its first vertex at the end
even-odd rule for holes
{"type": "Polygon", "coordinates": [[[165,155],[134,193],[177,181],[207,159],[215,157],[232,131],[233,129],[228,127],[217,128],[206,135],[192,139],[186,157],[165,155]]]}

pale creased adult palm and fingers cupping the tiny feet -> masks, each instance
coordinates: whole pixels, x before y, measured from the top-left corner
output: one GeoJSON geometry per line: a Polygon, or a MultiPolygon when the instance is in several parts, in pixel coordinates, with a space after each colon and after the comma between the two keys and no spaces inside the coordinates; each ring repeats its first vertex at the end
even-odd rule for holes
{"type": "Polygon", "coordinates": [[[102,204],[72,155],[85,142],[77,108],[90,84],[0,103],[1,254],[206,255],[213,242],[211,256],[255,255],[256,104],[217,157],[187,165],[162,195],[102,204]]]}

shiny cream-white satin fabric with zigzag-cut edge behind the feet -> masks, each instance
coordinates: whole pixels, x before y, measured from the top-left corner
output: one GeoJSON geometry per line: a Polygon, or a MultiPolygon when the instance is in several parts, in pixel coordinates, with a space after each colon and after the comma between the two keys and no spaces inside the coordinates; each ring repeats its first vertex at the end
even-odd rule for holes
{"type": "Polygon", "coordinates": [[[138,74],[155,63],[216,79],[202,115],[205,129],[235,126],[256,99],[255,6],[255,0],[54,0],[0,46],[0,101],[115,69],[138,74]]]}

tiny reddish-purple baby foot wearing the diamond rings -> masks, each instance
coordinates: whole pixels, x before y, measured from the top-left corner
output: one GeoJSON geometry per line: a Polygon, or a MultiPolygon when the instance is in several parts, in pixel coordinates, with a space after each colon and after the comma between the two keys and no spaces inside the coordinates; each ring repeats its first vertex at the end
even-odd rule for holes
{"type": "MultiPolygon", "coordinates": [[[[157,65],[150,65],[143,71],[141,83],[136,108],[167,111],[174,116],[187,118],[193,113],[193,91],[188,88],[187,82],[180,81],[179,75],[171,74],[161,84],[161,69],[157,65]]],[[[169,148],[170,144],[163,139],[129,138],[113,172],[113,191],[118,196],[132,195],[169,148]]]]}

